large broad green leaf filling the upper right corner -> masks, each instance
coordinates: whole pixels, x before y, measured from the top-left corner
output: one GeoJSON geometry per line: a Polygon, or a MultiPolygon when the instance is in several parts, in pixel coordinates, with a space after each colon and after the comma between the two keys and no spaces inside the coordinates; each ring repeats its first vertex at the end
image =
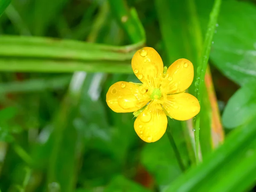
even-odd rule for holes
{"type": "Polygon", "coordinates": [[[223,2],[211,60],[225,76],[240,85],[256,79],[256,33],[253,23],[256,23],[256,6],[253,3],[237,0],[223,2]]]}

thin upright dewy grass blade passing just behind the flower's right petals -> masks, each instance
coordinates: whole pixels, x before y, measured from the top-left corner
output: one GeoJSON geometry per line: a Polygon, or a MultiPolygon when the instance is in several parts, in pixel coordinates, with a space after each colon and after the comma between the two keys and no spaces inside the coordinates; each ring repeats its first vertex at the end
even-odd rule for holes
{"type": "MultiPolygon", "coordinates": [[[[210,13],[210,19],[208,23],[208,28],[204,40],[204,46],[202,50],[202,57],[201,60],[199,61],[198,69],[197,69],[197,79],[195,82],[195,93],[197,95],[198,101],[201,104],[202,102],[202,92],[203,92],[203,86],[204,86],[204,76],[206,73],[207,69],[207,63],[209,59],[209,54],[211,50],[211,45],[212,45],[212,38],[214,35],[215,27],[217,24],[217,18],[218,18],[218,13],[220,10],[221,6],[221,0],[215,0],[212,12],[210,13]]],[[[199,128],[200,126],[200,113],[196,116],[196,122],[195,122],[195,158],[196,158],[196,163],[200,163],[201,157],[200,157],[200,141],[199,141],[199,128]]]]}

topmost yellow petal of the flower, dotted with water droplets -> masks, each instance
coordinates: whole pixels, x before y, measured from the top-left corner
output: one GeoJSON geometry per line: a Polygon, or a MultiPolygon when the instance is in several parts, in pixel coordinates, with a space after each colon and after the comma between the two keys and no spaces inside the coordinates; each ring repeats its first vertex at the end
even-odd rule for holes
{"type": "Polygon", "coordinates": [[[163,75],[163,61],[157,51],[151,47],[138,50],[132,60],[134,74],[149,88],[158,88],[163,75]]]}

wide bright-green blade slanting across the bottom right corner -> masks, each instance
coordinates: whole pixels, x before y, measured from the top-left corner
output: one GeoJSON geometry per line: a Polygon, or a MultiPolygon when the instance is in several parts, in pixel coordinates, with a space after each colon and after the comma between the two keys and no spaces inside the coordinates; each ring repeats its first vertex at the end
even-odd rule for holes
{"type": "Polygon", "coordinates": [[[242,192],[256,182],[256,121],[234,130],[204,162],[166,188],[166,192],[242,192]]]}

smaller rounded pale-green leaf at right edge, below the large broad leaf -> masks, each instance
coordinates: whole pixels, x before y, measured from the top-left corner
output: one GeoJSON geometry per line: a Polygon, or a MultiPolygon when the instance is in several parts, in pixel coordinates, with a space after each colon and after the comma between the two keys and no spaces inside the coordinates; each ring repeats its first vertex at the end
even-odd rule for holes
{"type": "Polygon", "coordinates": [[[245,84],[229,99],[223,112],[223,125],[236,128],[256,117],[256,81],[245,84]]]}

